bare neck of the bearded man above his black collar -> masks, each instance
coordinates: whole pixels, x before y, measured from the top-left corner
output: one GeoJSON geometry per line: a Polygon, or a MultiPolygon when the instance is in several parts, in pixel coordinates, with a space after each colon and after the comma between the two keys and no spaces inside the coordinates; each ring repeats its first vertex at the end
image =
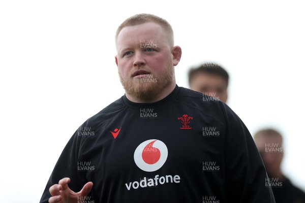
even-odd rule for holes
{"type": "Polygon", "coordinates": [[[160,101],[161,99],[168,96],[176,87],[176,82],[171,83],[168,87],[166,87],[163,91],[161,91],[155,98],[153,99],[143,99],[143,98],[137,98],[131,94],[128,94],[125,92],[126,97],[128,100],[134,102],[134,103],[154,103],[157,101],[160,101]]]}

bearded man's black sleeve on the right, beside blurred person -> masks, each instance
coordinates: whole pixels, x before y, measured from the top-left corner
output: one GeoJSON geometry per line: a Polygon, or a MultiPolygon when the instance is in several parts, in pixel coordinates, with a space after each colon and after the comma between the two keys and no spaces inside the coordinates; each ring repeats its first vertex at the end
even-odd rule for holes
{"type": "Polygon", "coordinates": [[[252,136],[239,117],[227,106],[225,148],[228,202],[275,202],[267,174],[252,136]]]}

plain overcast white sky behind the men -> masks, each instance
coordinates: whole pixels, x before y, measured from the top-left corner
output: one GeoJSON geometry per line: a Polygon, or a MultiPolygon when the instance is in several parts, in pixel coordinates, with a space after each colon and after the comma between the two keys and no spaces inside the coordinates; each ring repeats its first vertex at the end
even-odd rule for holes
{"type": "Polygon", "coordinates": [[[283,171],[305,190],[304,3],[198,2],[0,2],[3,202],[38,202],[75,130],[124,94],[114,33],[137,13],[172,24],[179,86],[189,87],[189,68],[203,61],[225,67],[229,106],[252,134],[283,133],[283,171]]]}

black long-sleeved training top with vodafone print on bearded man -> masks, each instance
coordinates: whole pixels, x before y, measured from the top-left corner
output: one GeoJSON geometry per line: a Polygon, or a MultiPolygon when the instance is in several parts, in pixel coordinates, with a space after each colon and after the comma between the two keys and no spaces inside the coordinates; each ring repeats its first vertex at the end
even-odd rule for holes
{"type": "Polygon", "coordinates": [[[274,202],[247,127],[222,101],[176,86],[152,104],[124,95],[84,122],[42,195],[64,177],[79,202],[274,202]]]}

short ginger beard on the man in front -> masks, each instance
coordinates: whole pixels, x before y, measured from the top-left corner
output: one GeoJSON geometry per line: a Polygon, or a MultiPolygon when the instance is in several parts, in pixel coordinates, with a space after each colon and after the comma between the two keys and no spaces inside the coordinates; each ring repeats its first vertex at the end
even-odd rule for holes
{"type": "MultiPolygon", "coordinates": [[[[141,70],[141,67],[137,70],[141,70]]],[[[165,87],[169,86],[174,81],[174,65],[172,61],[169,61],[160,73],[150,73],[150,75],[153,75],[152,78],[133,78],[131,74],[128,78],[123,78],[119,71],[118,75],[126,93],[136,98],[149,101],[156,98],[165,87]]]]}

